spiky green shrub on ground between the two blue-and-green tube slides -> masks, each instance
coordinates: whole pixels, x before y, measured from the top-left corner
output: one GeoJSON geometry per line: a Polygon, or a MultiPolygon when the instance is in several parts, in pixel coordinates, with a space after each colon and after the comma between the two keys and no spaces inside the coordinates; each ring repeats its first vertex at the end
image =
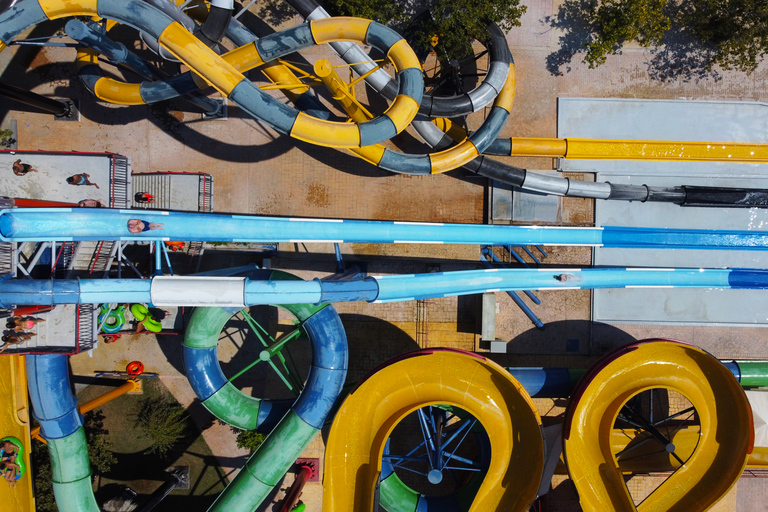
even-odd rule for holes
{"type": "Polygon", "coordinates": [[[147,453],[163,457],[189,434],[190,418],[176,401],[162,396],[147,397],[139,405],[134,426],[151,443],[147,453]]]}

